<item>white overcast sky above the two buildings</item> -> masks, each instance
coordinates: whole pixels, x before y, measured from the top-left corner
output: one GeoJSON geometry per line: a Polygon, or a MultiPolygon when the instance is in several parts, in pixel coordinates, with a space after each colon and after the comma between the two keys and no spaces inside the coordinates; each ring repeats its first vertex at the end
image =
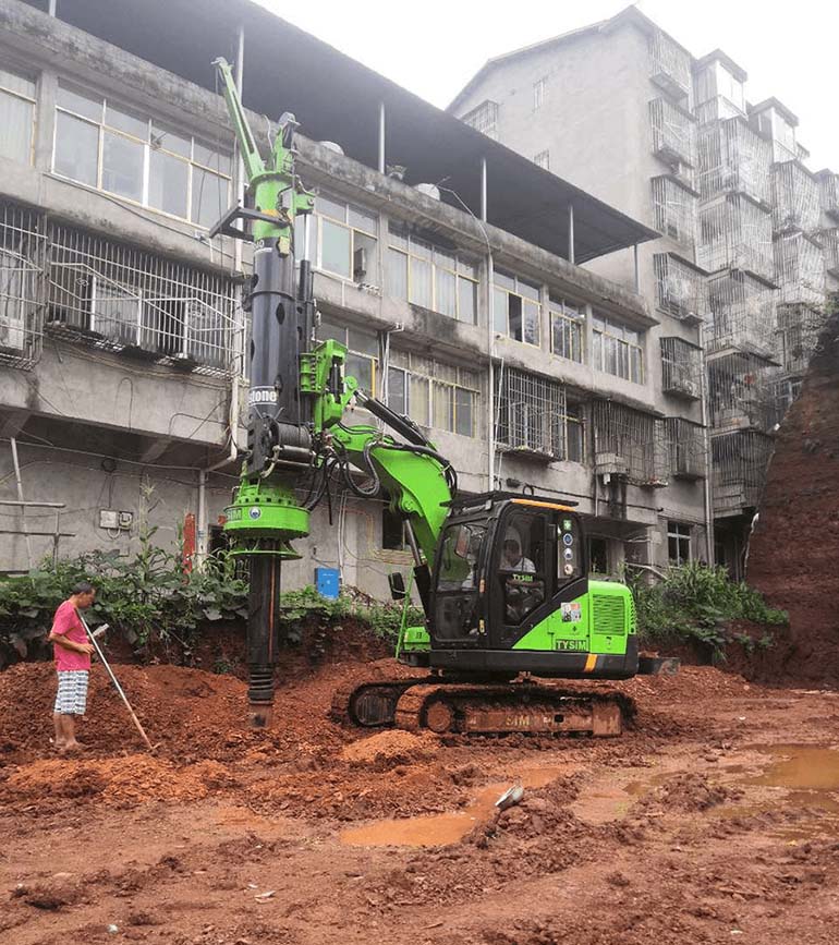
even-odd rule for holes
{"type": "MultiPolygon", "coordinates": [[[[258,2],[440,108],[487,59],[627,5],[620,0],[258,2]]],[[[774,95],[799,117],[799,141],[813,153],[811,170],[839,171],[836,0],[642,0],[636,5],[694,56],[724,49],[749,73],[751,101],[774,95]]]]}

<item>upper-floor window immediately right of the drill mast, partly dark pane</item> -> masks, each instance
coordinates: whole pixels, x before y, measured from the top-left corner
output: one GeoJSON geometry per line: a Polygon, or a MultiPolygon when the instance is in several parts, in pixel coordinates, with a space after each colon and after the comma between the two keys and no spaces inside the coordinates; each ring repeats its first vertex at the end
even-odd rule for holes
{"type": "MultiPolygon", "coordinates": [[[[302,231],[297,222],[297,235],[302,231]]],[[[338,197],[318,194],[315,198],[317,244],[313,265],[353,282],[377,281],[378,216],[338,197]]],[[[300,255],[300,254],[299,254],[300,255]]]]}

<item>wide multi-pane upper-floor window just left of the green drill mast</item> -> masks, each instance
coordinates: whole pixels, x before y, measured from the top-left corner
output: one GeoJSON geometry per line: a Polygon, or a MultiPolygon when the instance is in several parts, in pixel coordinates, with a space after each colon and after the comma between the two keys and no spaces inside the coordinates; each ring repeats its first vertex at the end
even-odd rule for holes
{"type": "Polygon", "coordinates": [[[229,154],[64,83],[52,170],[206,229],[230,205],[229,154]]]}

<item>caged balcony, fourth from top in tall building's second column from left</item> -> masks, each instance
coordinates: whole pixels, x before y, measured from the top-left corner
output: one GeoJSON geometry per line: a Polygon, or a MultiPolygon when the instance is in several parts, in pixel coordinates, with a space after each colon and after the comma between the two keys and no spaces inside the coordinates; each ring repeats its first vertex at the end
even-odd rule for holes
{"type": "Polygon", "coordinates": [[[747,272],[720,272],[708,280],[709,354],[744,351],[770,359],[775,353],[776,292],[747,272]]]}

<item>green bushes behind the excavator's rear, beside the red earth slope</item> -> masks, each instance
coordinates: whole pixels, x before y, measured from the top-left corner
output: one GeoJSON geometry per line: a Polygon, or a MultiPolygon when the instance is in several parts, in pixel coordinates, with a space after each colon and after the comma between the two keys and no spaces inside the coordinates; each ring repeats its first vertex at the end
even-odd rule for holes
{"type": "Polygon", "coordinates": [[[754,639],[732,631],[732,621],[747,620],[767,628],[788,622],[783,610],[769,607],[759,591],[746,583],[731,581],[725,568],[691,561],[670,568],[657,584],[632,574],[627,576],[627,582],[635,598],[642,644],[698,642],[710,647],[715,658],[725,658],[726,644],[731,641],[750,652],[773,643],[770,630],[754,639]]]}

